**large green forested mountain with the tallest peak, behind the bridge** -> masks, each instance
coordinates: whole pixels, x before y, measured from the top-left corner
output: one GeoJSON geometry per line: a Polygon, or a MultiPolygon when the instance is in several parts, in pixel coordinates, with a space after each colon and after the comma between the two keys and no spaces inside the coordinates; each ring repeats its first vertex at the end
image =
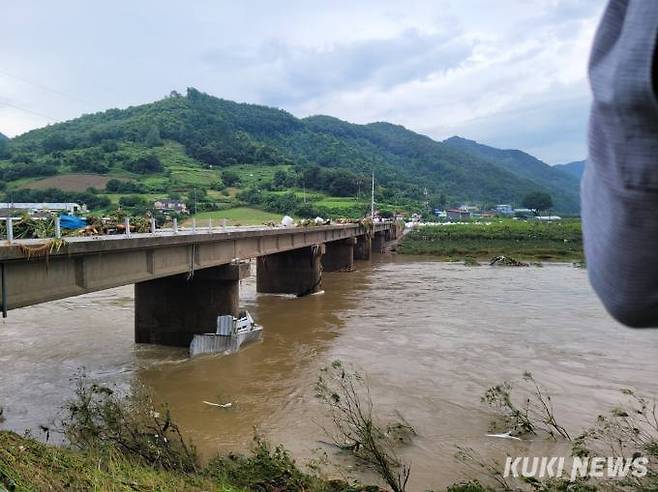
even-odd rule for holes
{"type": "MultiPolygon", "coordinates": [[[[577,190],[562,173],[542,181],[520,162],[506,165],[482,151],[436,142],[402,126],[356,125],[329,116],[299,119],[196,89],[33,130],[10,140],[9,150],[0,162],[0,179],[9,189],[14,180],[82,172],[137,179],[146,192],[167,191],[180,189],[176,172],[182,165],[197,166],[199,176],[205,170],[198,185],[210,187],[208,170],[221,179],[222,169],[252,165],[282,169],[280,185],[335,196],[367,189],[374,170],[377,194],[389,203],[420,203],[426,196],[431,206],[519,203],[530,191],[546,190],[554,194],[556,210],[578,209],[577,190]]],[[[529,166],[536,164],[523,155],[529,166]]]]}

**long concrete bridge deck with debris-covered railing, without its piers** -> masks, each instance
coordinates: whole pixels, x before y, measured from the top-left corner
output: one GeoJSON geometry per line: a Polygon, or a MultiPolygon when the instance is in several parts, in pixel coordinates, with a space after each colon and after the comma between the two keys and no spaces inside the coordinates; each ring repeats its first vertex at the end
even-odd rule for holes
{"type": "MultiPolygon", "coordinates": [[[[392,227],[375,225],[375,231],[392,227]]],[[[121,285],[190,273],[236,259],[361,236],[361,224],[316,227],[232,227],[65,237],[59,250],[34,251],[47,239],[0,243],[8,309],[121,285]]]]}

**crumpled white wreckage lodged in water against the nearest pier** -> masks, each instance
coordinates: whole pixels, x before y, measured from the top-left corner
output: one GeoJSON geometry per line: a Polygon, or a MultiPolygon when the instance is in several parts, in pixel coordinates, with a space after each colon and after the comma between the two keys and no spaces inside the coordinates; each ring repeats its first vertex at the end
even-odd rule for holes
{"type": "Polygon", "coordinates": [[[215,333],[194,335],[190,344],[190,357],[200,354],[232,354],[242,345],[260,340],[263,327],[257,325],[251,315],[244,311],[239,317],[230,314],[217,316],[215,333]]]}

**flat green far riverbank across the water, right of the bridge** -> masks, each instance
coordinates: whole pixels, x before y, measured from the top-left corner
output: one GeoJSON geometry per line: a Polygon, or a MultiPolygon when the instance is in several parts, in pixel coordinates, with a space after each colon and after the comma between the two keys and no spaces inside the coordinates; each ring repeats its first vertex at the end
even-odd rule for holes
{"type": "Polygon", "coordinates": [[[582,261],[580,220],[553,223],[502,220],[421,226],[405,235],[398,251],[445,260],[504,255],[534,261],[582,261]]]}

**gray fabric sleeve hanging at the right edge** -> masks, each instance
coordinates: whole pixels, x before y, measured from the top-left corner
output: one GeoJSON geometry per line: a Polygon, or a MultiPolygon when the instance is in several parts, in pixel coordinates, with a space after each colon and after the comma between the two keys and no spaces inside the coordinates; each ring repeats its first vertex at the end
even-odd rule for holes
{"type": "Polygon", "coordinates": [[[617,320],[658,326],[658,1],[611,0],[589,66],[581,183],[590,281],[617,320]]]}

